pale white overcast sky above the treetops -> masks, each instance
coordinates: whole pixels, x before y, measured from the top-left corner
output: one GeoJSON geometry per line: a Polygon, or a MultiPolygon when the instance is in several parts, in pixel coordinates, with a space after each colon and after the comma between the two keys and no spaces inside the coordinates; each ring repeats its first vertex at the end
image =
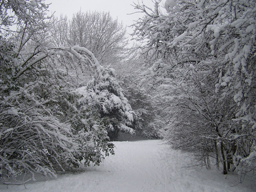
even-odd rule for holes
{"type": "MultiPolygon", "coordinates": [[[[137,20],[141,14],[134,13],[136,10],[132,5],[133,2],[137,3],[138,0],[46,0],[45,3],[52,3],[49,6],[49,11],[54,12],[56,16],[61,13],[67,15],[68,19],[71,19],[73,13],[77,13],[80,9],[82,12],[98,11],[109,12],[113,19],[118,18],[119,22],[123,22],[124,26],[130,26],[133,24],[133,20],[137,20]]],[[[141,2],[142,0],[139,0],[141,2]]],[[[144,4],[152,7],[152,0],[143,0],[144,4]]],[[[153,8],[153,7],[152,7],[153,8]]],[[[143,14],[142,14],[143,15],[143,14]]],[[[128,33],[132,33],[130,28],[127,28],[128,33]]]]}

